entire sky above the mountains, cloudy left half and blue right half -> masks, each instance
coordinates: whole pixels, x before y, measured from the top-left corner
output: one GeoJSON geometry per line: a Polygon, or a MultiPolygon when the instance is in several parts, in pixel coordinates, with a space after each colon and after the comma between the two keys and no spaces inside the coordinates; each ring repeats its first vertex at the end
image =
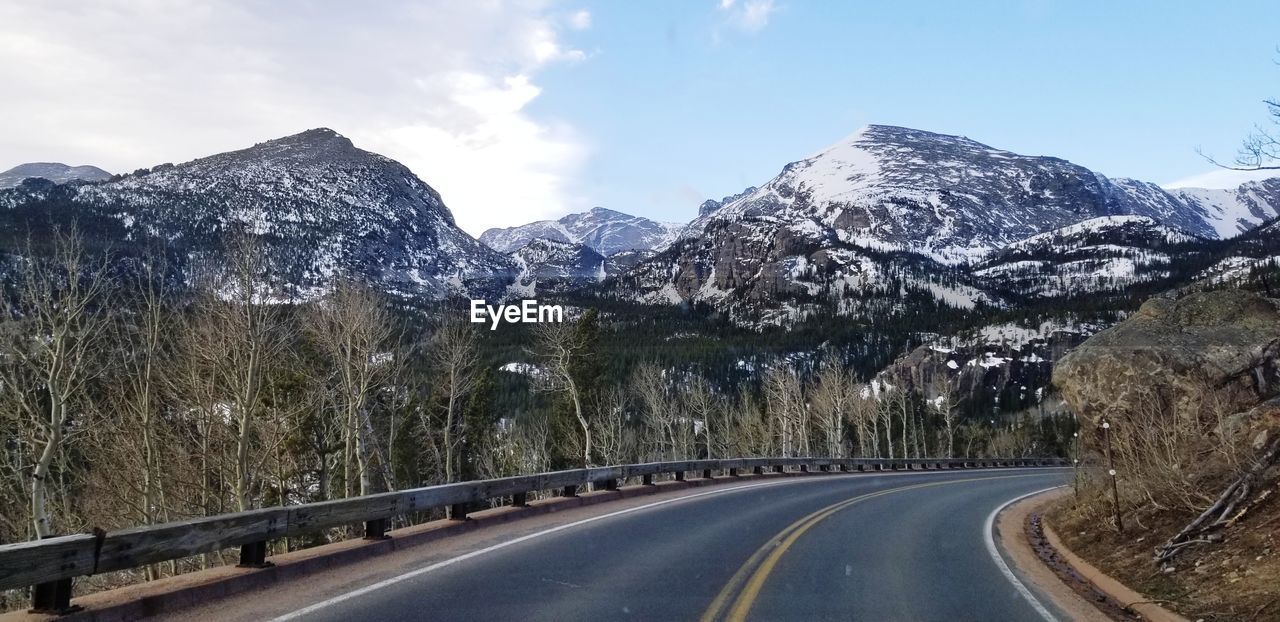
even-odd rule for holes
{"type": "Polygon", "coordinates": [[[0,0],[0,169],[129,171],[314,127],[472,234],[686,221],[869,123],[1230,187],[1280,3],[0,0]]]}

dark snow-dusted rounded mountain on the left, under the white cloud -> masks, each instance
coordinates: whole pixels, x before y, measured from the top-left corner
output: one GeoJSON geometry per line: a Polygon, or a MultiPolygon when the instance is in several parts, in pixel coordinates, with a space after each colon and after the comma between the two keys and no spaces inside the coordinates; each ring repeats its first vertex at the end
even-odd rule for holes
{"type": "Polygon", "coordinates": [[[99,234],[156,239],[191,260],[218,250],[228,233],[253,234],[294,296],[310,296],[337,273],[402,296],[500,291],[516,267],[458,229],[439,193],[412,171],[332,129],[110,182],[28,186],[0,191],[0,205],[23,207],[6,218],[44,211],[50,220],[93,220],[99,234]]]}

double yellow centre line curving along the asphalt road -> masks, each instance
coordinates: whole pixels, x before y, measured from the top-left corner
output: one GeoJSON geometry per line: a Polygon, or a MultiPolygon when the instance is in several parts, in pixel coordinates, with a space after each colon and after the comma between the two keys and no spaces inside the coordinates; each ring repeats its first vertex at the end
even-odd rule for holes
{"type": "Polygon", "coordinates": [[[778,564],[778,559],[782,559],[782,555],[787,553],[787,549],[800,540],[800,536],[803,536],[805,531],[809,531],[810,527],[827,520],[841,509],[877,497],[904,493],[906,490],[915,490],[920,488],[945,486],[948,484],[963,484],[966,481],[1007,480],[1014,477],[1034,476],[1036,475],[1002,475],[997,477],[968,477],[963,480],[932,481],[928,484],[914,484],[910,486],[867,493],[827,506],[796,522],[792,522],[786,529],[780,531],[778,535],[771,538],[763,546],[756,549],[755,553],[746,559],[746,563],[744,563],[742,567],[740,567],[737,572],[730,577],[728,582],[724,584],[724,589],[716,595],[716,600],[712,600],[710,607],[707,608],[707,612],[703,613],[703,617],[699,619],[701,622],[717,622],[721,619],[728,622],[744,622],[746,619],[746,614],[751,610],[751,605],[755,604],[755,599],[760,595],[760,589],[764,587],[764,582],[769,578],[769,573],[773,572],[773,567],[778,564]],[[737,598],[733,598],[735,594],[737,598]]]}

